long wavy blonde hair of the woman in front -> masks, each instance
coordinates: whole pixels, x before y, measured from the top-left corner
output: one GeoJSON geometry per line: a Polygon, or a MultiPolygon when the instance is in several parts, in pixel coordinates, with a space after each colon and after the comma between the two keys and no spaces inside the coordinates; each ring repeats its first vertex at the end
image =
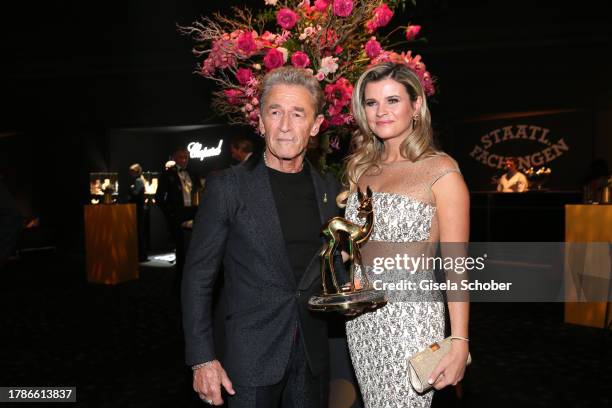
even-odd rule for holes
{"type": "Polygon", "coordinates": [[[404,85],[415,103],[421,97],[421,107],[413,117],[412,132],[400,145],[400,154],[403,158],[417,161],[420,158],[438,153],[434,146],[433,131],[431,128],[431,115],[427,107],[427,99],[419,78],[410,68],[403,64],[385,62],[375,65],[365,71],[353,88],[352,108],[353,116],[359,126],[351,138],[350,155],[346,158],[346,171],[344,184],[348,191],[338,196],[338,202],[344,201],[349,192],[355,191],[359,178],[368,170],[380,170],[380,160],[384,151],[384,144],[368,126],[365,113],[365,88],[371,82],[383,79],[393,79],[404,85]]]}

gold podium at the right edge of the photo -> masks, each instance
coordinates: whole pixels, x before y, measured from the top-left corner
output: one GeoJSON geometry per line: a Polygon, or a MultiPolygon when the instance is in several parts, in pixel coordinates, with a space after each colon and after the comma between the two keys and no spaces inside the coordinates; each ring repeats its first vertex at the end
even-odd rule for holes
{"type": "MultiPolygon", "coordinates": [[[[612,242],[612,205],[566,205],[565,242],[612,242]]],[[[601,259],[603,256],[605,262],[605,257],[609,257],[609,254],[610,252],[608,255],[599,254],[599,257],[601,259]]],[[[612,279],[609,271],[607,278],[612,279]]],[[[611,320],[612,303],[565,303],[566,323],[603,328],[611,320]],[[609,308],[608,322],[605,322],[607,308],[609,308]]]]}

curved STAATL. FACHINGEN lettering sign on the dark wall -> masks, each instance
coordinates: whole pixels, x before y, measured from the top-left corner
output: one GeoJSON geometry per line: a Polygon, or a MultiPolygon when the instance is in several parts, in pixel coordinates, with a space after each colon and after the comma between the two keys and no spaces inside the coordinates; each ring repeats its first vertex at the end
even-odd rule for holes
{"type": "Polygon", "coordinates": [[[470,156],[474,160],[481,162],[485,166],[495,169],[504,168],[506,159],[503,155],[498,155],[490,152],[490,148],[501,144],[511,143],[514,140],[533,140],[543,146],[536,151],[517,156],[518,167],[528,169],[530,167],[539,167],[545,163],[549,163],[561,156],[564,152],[569,151],[569,146],[563,138],[557,141],[551,141],[549,138],[550,129],[533,125],[511,125],[495,129],[485,134],[480,138],[480,143],[477,143],[472,148],[470,156]]]}

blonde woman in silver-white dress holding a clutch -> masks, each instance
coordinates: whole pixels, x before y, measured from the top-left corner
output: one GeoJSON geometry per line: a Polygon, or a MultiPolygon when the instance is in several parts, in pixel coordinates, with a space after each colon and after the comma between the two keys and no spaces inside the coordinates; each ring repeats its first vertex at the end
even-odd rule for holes
{"type": "MultiPolygon", "coordinates": [[[[435,279],[432,270],[406,273],[396,267],[380,273],[375,268],[381,259],[398,254],[420,256],[438,242],[468,241],[468,191],[456,162],[433,146],[419,79],[401,64],[376,65],[357,81],[352,104],[359,131],[347,158],[346,218],[363,224],[355,191],[369,186],[374,191],[375,221],[361,253],[370,282],[435,279]]],[[[379,288],[380,282],[375,286],[379,288]]],[[[366,407],[430,406],[433,393],[419,395],[410,385],[408,359],[445,337],[440,295],[387,290],[386,306],[347,322],[351,359],[366,407]]],[[[434,370],[430,383],[435,389],[461,380],[468,356],[469,304],[448,302],[448,309],[451,335],[463,339],[452,341],[450,353],[434,370]]]]}

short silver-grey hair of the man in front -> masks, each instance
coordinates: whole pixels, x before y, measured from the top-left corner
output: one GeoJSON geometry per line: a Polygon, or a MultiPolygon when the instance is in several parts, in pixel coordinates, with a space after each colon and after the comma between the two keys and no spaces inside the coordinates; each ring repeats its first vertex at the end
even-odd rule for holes
{"type": "Polygon", "coordinates": [[[310,71],[303,68],[281,67],[268,72],[263,79],[260,98],[260,105],[262,107],[265,106],[266,98],[274,85],[303,86],[312,96],[315,116],[323,113],[323,105],[325,104],[323,91],[319,81],[310,71]]]}

